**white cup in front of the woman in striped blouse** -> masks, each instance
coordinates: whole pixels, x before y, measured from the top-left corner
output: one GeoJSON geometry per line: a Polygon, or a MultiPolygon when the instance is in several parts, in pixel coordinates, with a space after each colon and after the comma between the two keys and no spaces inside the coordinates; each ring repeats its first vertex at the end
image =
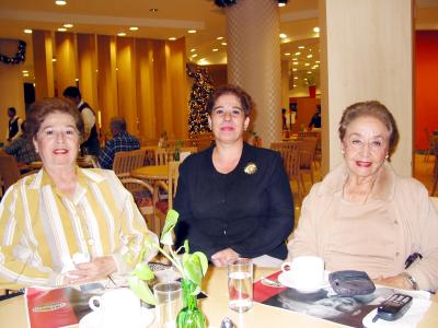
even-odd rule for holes
{"type": "Polygon", "coordinates": [[[115,289],[93,296],[89,306],[99,315],[100,327],[141,327],[140,298],[128,289],[115,289]]]}

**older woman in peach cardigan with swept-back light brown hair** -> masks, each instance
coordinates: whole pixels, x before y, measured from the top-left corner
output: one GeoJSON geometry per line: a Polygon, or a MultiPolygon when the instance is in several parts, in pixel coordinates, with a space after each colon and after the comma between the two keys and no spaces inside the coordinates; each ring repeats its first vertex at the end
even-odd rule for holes
{"type": "Polygon", "coordinates": [[[313,185],[289,242],[289,259],[314,255],[328,271],[366,271],[400,289],[438,289],[438,213],[427,189],[389,161],[399,140],[379,102],[347,107],[339,122],[344,163],[313,185]]]}

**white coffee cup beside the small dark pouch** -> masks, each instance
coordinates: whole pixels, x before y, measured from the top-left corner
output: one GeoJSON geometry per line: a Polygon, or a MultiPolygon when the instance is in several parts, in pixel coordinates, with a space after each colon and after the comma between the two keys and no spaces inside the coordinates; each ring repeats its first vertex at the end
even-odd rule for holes
{"type": "Polygon", "coordinates": [[[324,282],[324,260],[316,256],[299,256],[284,262],[281,271],[297,288],[314,289],[324,282]]]}

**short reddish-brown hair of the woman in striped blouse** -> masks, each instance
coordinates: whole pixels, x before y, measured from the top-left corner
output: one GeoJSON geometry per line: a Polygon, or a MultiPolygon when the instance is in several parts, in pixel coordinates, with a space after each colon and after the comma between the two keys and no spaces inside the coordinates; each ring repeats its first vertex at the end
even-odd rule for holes
{"type": "Polygon", "coordinates": [[[74,119],[76,128],[80,137],[84,134],[82,116],[76,105],[66,98],[44,98],[31,105],[26,115],[26,132],[30,138],[36,139],[41,125],[47,115],[53,113],[64,113],[74,119]]]}

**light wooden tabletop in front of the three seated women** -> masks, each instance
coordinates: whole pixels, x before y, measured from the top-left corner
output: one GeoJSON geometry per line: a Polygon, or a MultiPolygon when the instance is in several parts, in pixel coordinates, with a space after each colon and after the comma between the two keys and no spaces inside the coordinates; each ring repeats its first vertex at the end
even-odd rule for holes
{"type": "MultiPolygon", "coordinates": [[[[255,279],[268,276],[272,269],[256,269],[255,279]]],[[[223,317],[230,317],[238,328],[266,328],[266,327],[342,327],[335,323],[321,320],[302,314],[284,311],[254,303],[253,308],[244,314],[238,314],[228,308],[227,269],[209,268],[203,282],[208,298],[199,301],[199,306],[208,319],[209,328],[219,328],[223,317]]],[[[438,327],[438,296],[435,295],[433,304],[418,325],[419,328],[438,327]]],[[[0,326],[24,328],[26,313],[24,296],[18,296],[0,303],[0,326]]],[[[158,328],[157,324],[150,326],[158,328]]],[[[394,326],[396,327],[396,326],[394,326]]]]}

